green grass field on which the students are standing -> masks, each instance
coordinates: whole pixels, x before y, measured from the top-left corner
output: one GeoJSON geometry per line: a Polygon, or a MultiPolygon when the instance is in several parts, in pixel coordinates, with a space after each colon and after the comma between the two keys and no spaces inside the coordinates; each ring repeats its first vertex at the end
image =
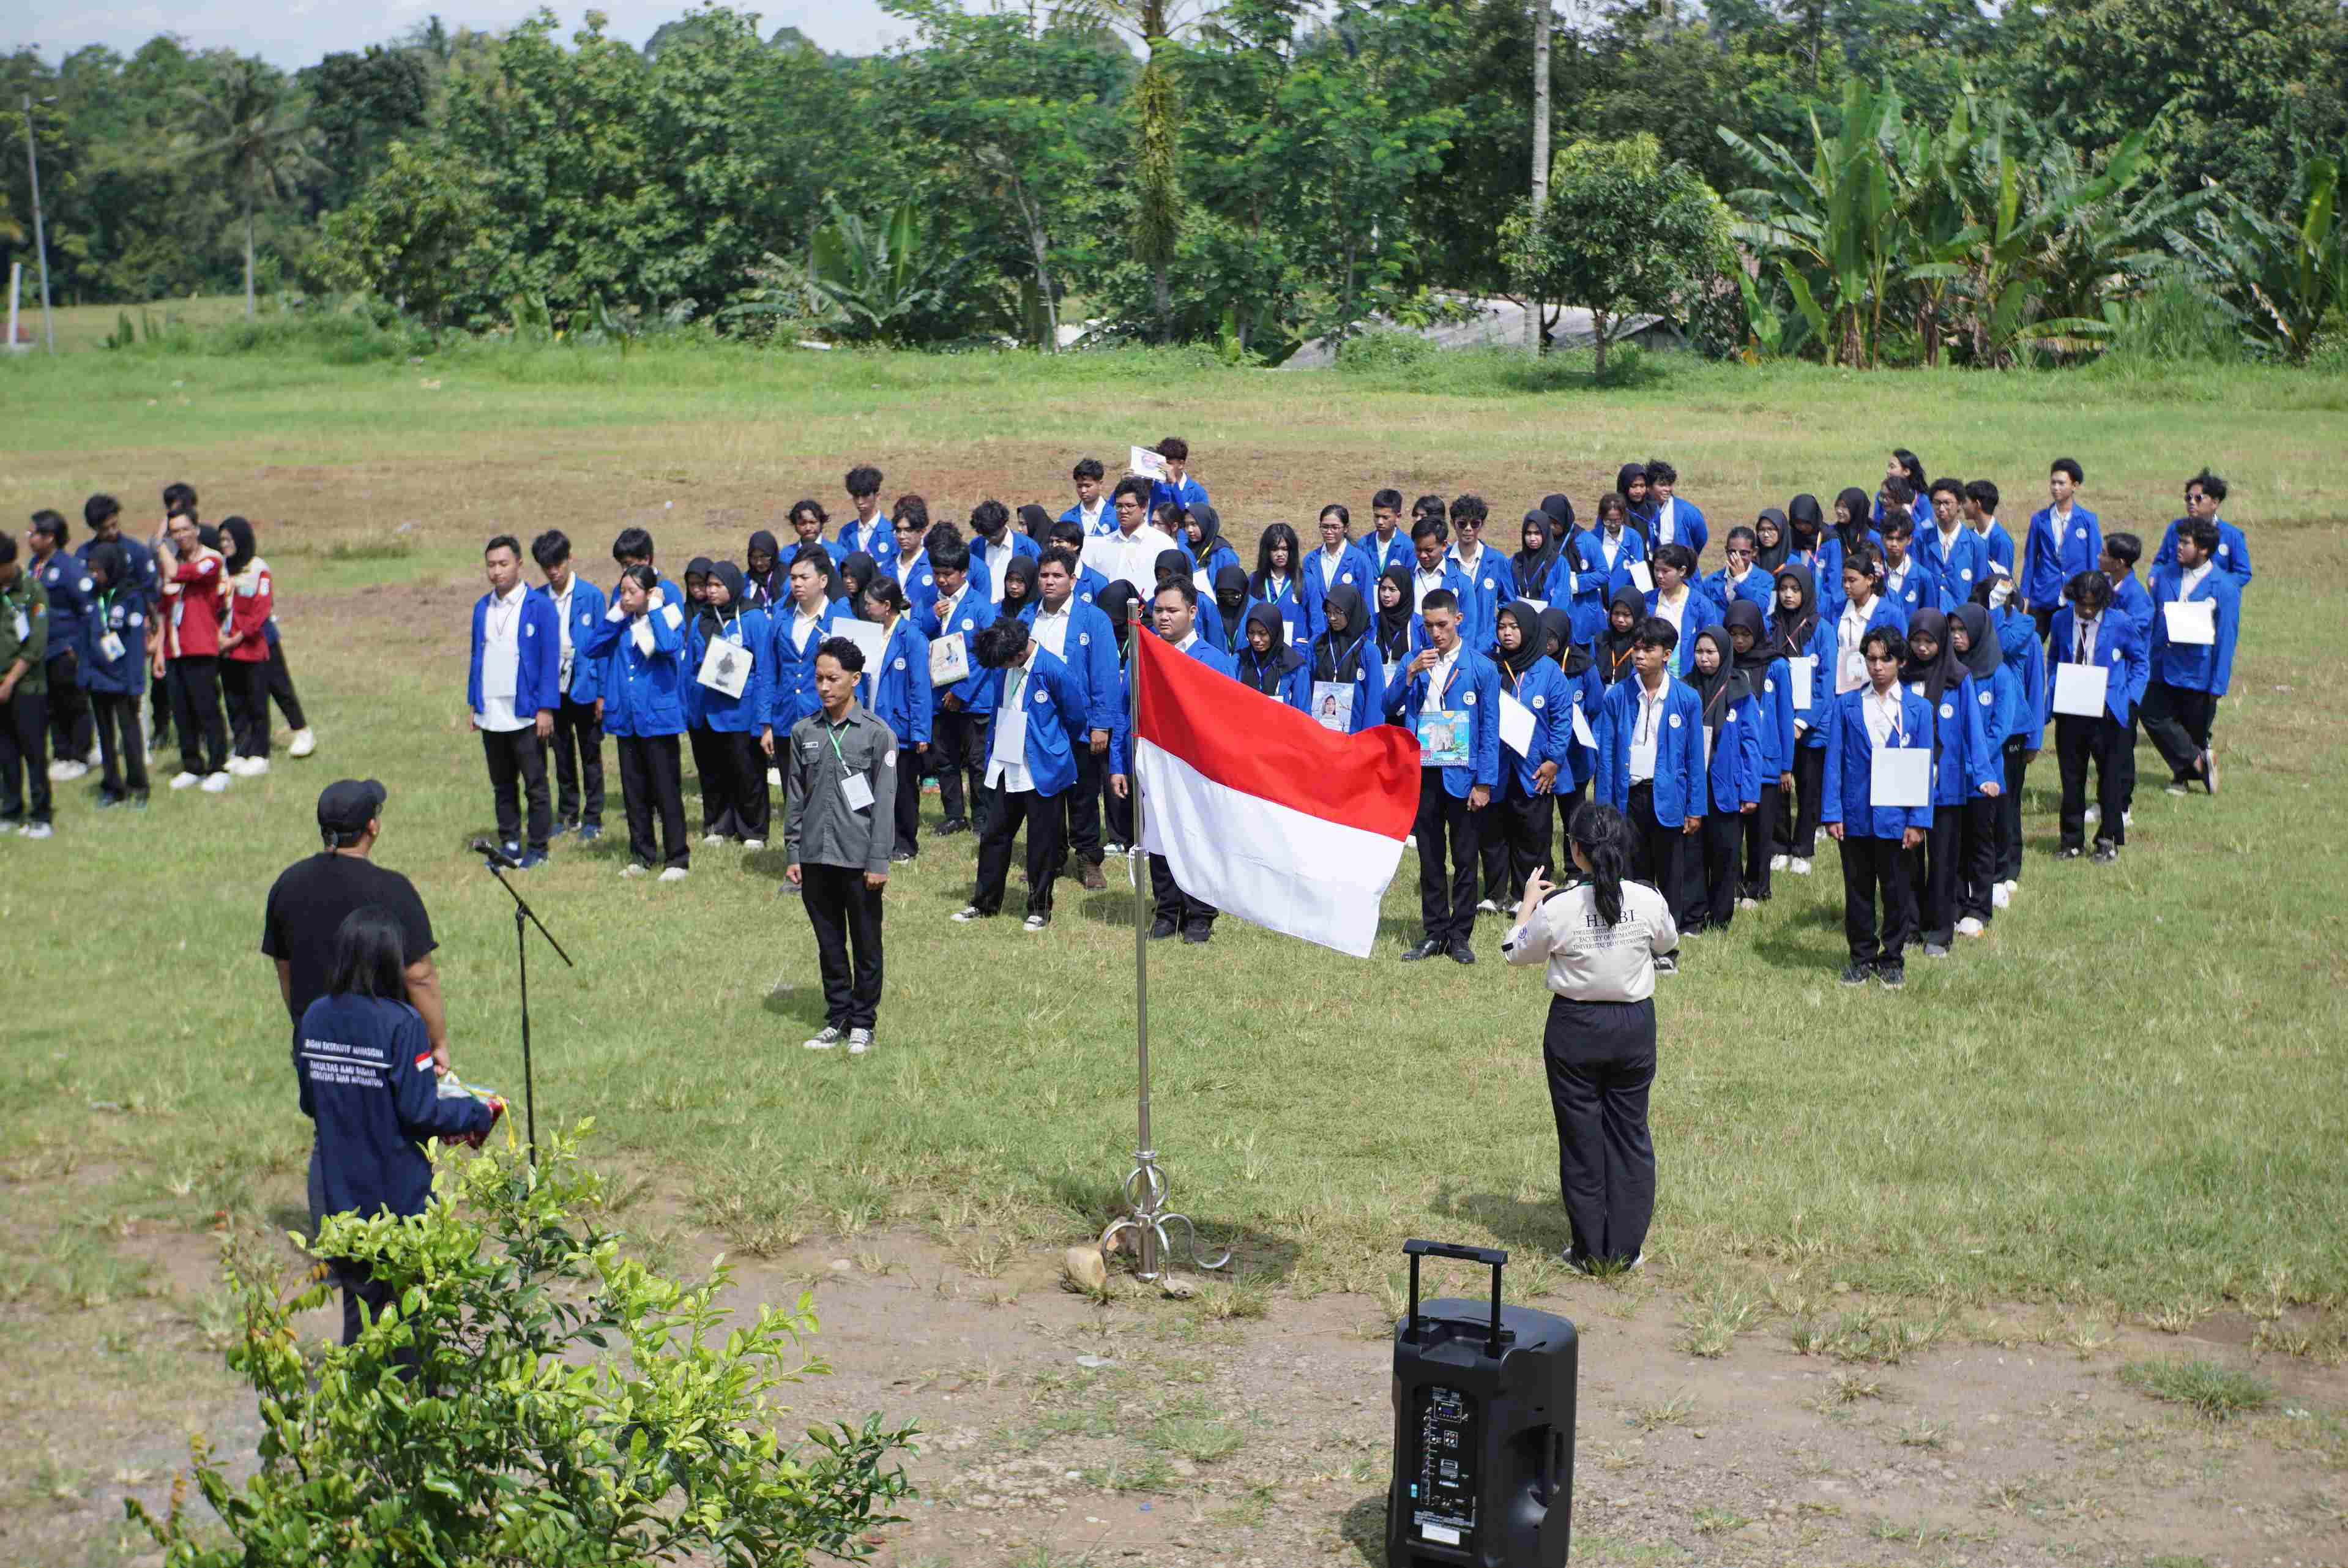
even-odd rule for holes
{"type": "MultiPolygon", "coordinates": [[[[9,1338],[136,1293],[110,1237],[200,1232],[301,1202],[308,1124],[256,951],[270,878],[315,847],[315,791],[390,784],[380,859],[441,937],[460,1070],[517,1089],[505,894],[460,852],[488,826],[465,732],[465,608],[479,542],[564,526],[608,580],[608,538],[660,559],[740,554],[850,462],[963,516],[986,495],[1054,509],[1068,462],[1165,432],[1230,533],[1327,500],[1477,488],[1512,538],[1543,491],[1587,512],[1618,462],[1669,455],[1719,533],[1794,491],[1874,484],[1888,446],[1991,477],[2019,535],[2052,455],[2087,467],[2104,528],[2158,538],[2202,462],[2235,484],[2259,584],[2219,721],[2226,793],[2160,793],[2144,751],[2116,869],[2057,866],[2054,758],[2031,775],[2022,899],[1984,941],[1914,962],[1902,995],[1843,993],[1834,852],[1662,993],[1651,1246],[1702,1289],[1803,1265],[1949,1305],[2200,1314],[2348,1289],[2339,1171],[2348,1056],[2341,779],[2348,385],[2209,376],[1902,373],[1648,361],[1597,390],[1561,361],[1463,359],[1421,378],[1223,371],[1183,354],[1043,361],[730,350],[472,350],[423,364],[77,354],[0,366],[0,516],[77,514],[115,491],[150,528],[193,481],[251,516],[322,749],[225,798],[148,815],[61,786],[59,836],[0,843],[7,932],[0,1218],[9,1338]],[[115,1270],[115,1272],[108,1272],[115,1270]],[[106,1296],[108,1291],[96,1291],[106,1296]]],[[[1712,561],[1707,561],[1712,566],[1712,561]]],[[[169,772],[169,768],[164,768],[169,772]]],[[[693,807],[688,782],[688,810],[693,807]]],[[[610,819],[620,819],[613,779],[610,819]]],[[[935,822],[935,807],[930,810],[935,822]]],[[[679,887],[622,883],[622,845],[559,850],[528,880],[580,958],[533,953],[540,1115],[594,1115],[596,1148],[737,1249],[871,1225],[993,1244],[1099,1230],[1132,1148],[1132,894],[1064,890],[1043,939],[946,922],[972,840],[890,890],[880,1049],[815,1056],[815,948],[775,897],[777,852],[697,852],[679,887]]],[[[1174,1197],[1287,1289],[1383,1279],[1406,1235],[1554,1256],[1566,1239],[1533,974],[1348,960],[1226,922],[1153,951],[1158,1148],[1174,1197]]],[[[1533,1279],[1538,1282],[1538,1270],[1533,1279]]],[[[122,1310],[122,1307],[110,1307],[122,1310]]],[[[14,1357],[0,1357],[14,1359],[14,1357]]],[[[21,1390],[19,1390],[21,1392],[21,1390]]]]}

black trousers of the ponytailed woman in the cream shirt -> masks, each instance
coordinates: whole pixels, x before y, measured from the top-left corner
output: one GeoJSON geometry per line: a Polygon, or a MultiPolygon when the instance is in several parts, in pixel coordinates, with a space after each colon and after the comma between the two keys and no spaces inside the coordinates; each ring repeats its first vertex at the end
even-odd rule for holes
{"type": "Polygon", "coordinates": [[[1630,1263],[1655,1218],[1655,1002],[1550,998],[1540,1056],[1557,1117],[1557,1190],[1576,1263],[1630,1263]]]}

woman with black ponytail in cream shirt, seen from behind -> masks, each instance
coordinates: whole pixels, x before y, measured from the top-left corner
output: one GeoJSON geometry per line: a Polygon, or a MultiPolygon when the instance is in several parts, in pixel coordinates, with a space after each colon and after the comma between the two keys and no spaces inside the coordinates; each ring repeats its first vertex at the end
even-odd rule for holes
{"type": "Polygon", "coordinates": [[[1597,800],[1566,824],[1566,887],[1543,871],[1524,883],[1517,925],[1500,944],[1512,965],[1547,965],[1543,1056],[1557,1115],[1557,1185],[1580,1270],[1639,1268],[1655,1216],[1655,1145],[1646,1096],[1655,1082],[1655,972],[1672,972],[1679,927],[1660,892],[1630,880],[1622,812],[1597,800]]]}

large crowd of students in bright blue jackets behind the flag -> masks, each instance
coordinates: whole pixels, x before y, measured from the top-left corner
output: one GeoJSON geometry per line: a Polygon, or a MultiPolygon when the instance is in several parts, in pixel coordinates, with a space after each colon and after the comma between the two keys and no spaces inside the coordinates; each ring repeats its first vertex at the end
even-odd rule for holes
{"type": "MultiPolygon", "coordinates": [[[[1028,920],[1040,925],[1061,854],[1073,850],[1099,885],[1101,854],[1129,838],[1122,671],[1127,613],[1143,596],[1155,631],[1331,728],[1432,725],[1428,756],[1444,763],[1421,800],[1425,934],[1411,958],[1472,962],[1475,915],[1505,908],[1533,866],[1554,864],[1557,800],[1571,807],[1583,791],[1653,829],[1641,869],[1693,932],[1766,899],[1773,871],[1808,873],[1827,826],[1846,843],[1846,880],[1867,871],[1864,904],[1885,906],[1864,930],[1853,915],[1864,979],[1897,976],[1918,934],[1928,953],[1946,953],[2015,894],[2022,777],[2050,723],[2064,857],[2085,852],[2090,822],[2099,859],[2125,843],[2139,716],[2172,791],[2217,786],[2209,725],[2249,552],[2217,516],[2226,488],[2207,472],[2188,481],[2151,584],[2134,577],[2141,542],[2104,535],[2078,505],[2083,474],[2069,458],[2050,467],[2050,505],[2019,552],[1993,484],[1923,481],[1900,451],[1876,495],[1843,491],[1831,521],[1796,495],[1728,528],[1726,563],[1709,575],[1707,521],[1676,495],[1667,462],[1627,467],[1587,528],[1564,495],[1545,498],[1524,514],[1514,554],[1484,542],[1489,509],[1475,495],[1421,498],[1404,523],[1399,493],[1381,491],[1359,538],[1341,505],[1322,509],[1313,545],[1273,523],[1254,570],[1188,474],[1104,493],[1087,460],[1073,479],[1075,505],[1059,519],[981,502],[965,538],[932,523],[918,495],[883,512],[880,474],[855,469],[855,519],[838,535],[803,500],[787,514],[789,549],[761,530],[744,563],[695,559],[681,587],[632,528],[613,545],[622,582],[610,601],[571,573],[564,535],[531,545],[542,589],[521,584],[519,542],[495,540],[470,707],[507,845],[531,859],[561,831],[601,829],[603,730],[620,739],[632,873],[674,878],[690,864],[681,739],[702,775],[704,843],[763,845],[775,730],[815,711],[817,650],[848,636],[859,699],[937,775],[942,833],[986,829],[1003,793],[1066,796],[1050,812],[1026,803],[1010,824],[1028,826],[1028,920]],[[1005,671],[977,646],[998,620],[1028,629],[1021,660],[1035,643],[1068,678],[1031,681],[1031,664],[1014,674],[1021,756],[1000,753],[1005,671]],[[1900,714],[1881,692],[1867,707],[1876,631],[1895,643],[1900,714]],[[2062,664],[2094,671],[2092,702],[2062,664]],[[1914,702],[1930,723],[1907,711],[1914,702]],[[526,730],[552,742],[554,803],[526,730]],[[1923,777],[1885,777],[1878,800],[1874,753],[1902,746],[1928,753],[1923,777]],[[1019,789],[998,789],[1007,768],[1019,789]],[[1057,819],[1043,845],[1038,817],[1057,819]],[[1853,838],[1890,838],[1900,854],[1853,852],[1853,838]]],[[[916,824],[918,791],[897,791],[897,859],[918,850],[916,824]]],[[[1174,892],[1160,899],[1160,927],[1202,939],[1212,911],[1174,892]]],[[[998,904],[1000,885],[981,876],[965,918],[998,904]]]]}

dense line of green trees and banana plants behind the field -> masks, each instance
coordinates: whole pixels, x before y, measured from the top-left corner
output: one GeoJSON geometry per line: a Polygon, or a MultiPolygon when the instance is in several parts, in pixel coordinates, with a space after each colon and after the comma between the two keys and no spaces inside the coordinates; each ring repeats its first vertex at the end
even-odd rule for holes
{"type": "MultiPolygon", "coordinates": [[[[641,49],[542,12],[294,73],[174,38],[0,70],[68,303],[892,343],[1080,319],[1277,359],[1503,293],[1876,366],[2146,312],[2303,359],[2348,298],[2332,0],[890,9],[911,42],[862,59],[709,7],[641,49]]],[[[21,162],[0,249],[31,263],[21,162]]]]}

